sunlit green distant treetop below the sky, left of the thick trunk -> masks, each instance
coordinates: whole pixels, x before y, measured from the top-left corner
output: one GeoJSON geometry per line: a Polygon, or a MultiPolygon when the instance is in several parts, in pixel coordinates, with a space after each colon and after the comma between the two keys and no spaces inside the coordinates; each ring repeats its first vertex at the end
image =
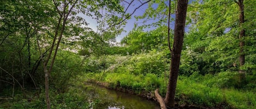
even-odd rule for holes
{"type": "Polygon", "coordinates": [[[142,31],[140,27],[130,31],[121,43],[125,44],[132,53],[148,52],[153,49],[163,50],[167,47],[167,30],[165,26],[151,31],[142,31]]]}

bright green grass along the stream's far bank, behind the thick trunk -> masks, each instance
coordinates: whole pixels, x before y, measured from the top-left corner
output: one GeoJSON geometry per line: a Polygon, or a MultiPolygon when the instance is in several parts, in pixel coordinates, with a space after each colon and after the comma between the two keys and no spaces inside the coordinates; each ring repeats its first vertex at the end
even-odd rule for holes
{"type": "MultiPolygon", "coordinates": [[[[134,75],[125,70],[124,73],[106,73],[104,76],[103,82],[111,83],[113,88],[118,83],[121,88],[132,89],[136,93],[152,92],[160,88],[159,93],[162,97],[165,96],[166,82],[163,76],[134,75]]],[[[246,88],[237,89],[232,85],[236,86],[236,81],[230,74],[179,76],[176,99],[180,100],[180,104],[208,108],[256,108],[256,93],[252,89],[247,91],[246,88]],[[222,85],[219,85],[220,82],[222,85]]]]}

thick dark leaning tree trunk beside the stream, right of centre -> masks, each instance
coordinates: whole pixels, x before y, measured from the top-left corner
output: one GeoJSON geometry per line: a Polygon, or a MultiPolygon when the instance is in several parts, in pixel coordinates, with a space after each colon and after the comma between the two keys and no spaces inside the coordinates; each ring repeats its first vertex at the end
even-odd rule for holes
{"type": "Polygon", "coordinates": [[[188,0],[178,0],[174,27],[174,44],[171,52],[170,77],[164,100],[165,104],[169,107],[174,107],[175,104],[174,97],[178,78],[178,70],[180,68],[180,57],[183,45],[187,6],[188,0]]]}

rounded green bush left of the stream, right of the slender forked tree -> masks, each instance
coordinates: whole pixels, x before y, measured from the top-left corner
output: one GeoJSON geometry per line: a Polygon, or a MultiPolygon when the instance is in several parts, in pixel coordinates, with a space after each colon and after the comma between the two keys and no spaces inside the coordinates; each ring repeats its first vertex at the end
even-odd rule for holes
{"type": "Polygon", "coordinates": [[[82,57],[75,53],[60,50],[56,56],[55,66],[50,76],[51,86],[65,92],[69,80],[84,72],[82,57]]]}

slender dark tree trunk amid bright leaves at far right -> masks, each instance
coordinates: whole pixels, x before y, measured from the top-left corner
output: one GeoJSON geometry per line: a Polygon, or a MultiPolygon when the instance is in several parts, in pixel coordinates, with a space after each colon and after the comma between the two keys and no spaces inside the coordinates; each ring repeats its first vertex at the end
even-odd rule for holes
{"type": "MultiPolygon", "coordinates": [[[[243,0],[239,0],[237,4],[239,5],[239,9],[240,9],[239,23],[240,23],[240,27],[242,27],[242,24],[245,23],[245,14],[243,12],[243,0]]],[[[241,83],[245,82],[245,78],[246,78],[245,70],[241,69],[241,67],[245,64],[245,52],[243,52],[243,47],[245,47],[244,37],[245,37],[245,29],[242,28],[239,34],[239,40],[240,40],[239,73],[240,73],[241,83]]]]}

